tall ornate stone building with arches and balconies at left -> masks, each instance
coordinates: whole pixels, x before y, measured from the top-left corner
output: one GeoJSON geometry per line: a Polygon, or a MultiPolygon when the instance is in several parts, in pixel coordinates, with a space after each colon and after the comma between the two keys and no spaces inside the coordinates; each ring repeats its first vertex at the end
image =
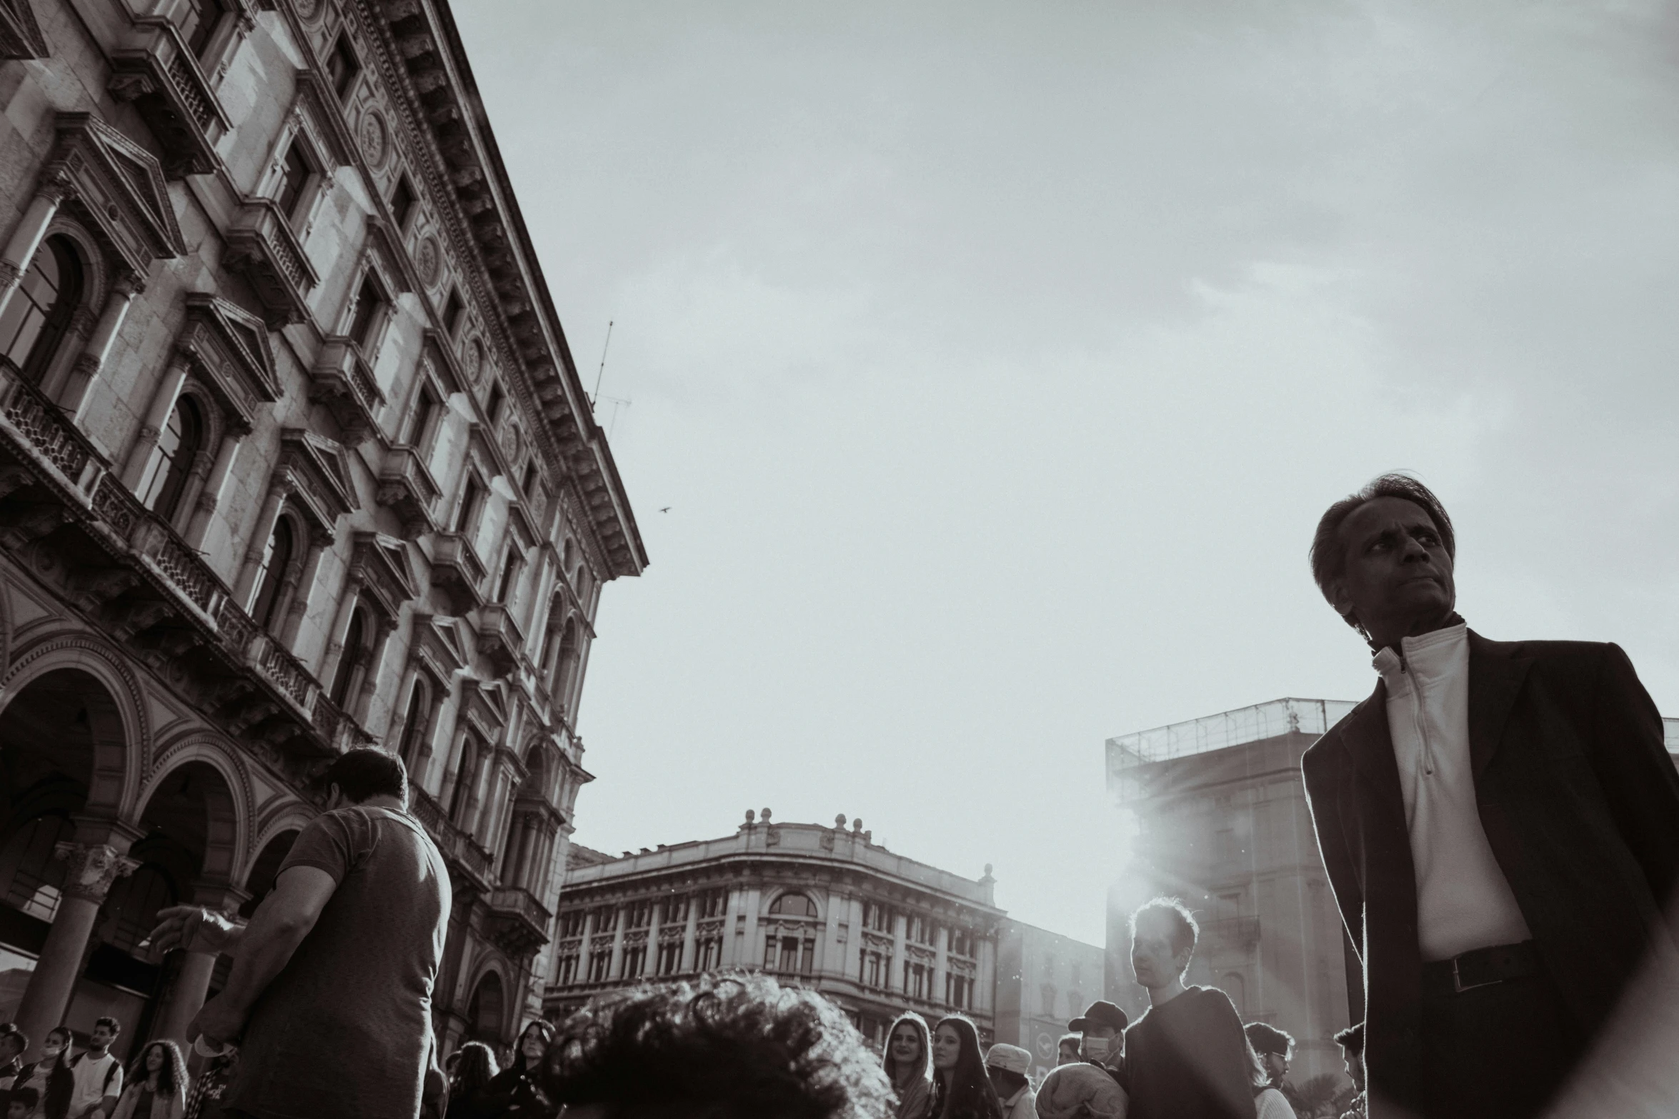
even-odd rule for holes
{"type": "Polygon", "coordinates": [[[0,0],[0,1018],[180,1037],[153,914],[248,913],[383,743],[438,1030],[510,1040],[646,557],[447,5],[0,0]]]}

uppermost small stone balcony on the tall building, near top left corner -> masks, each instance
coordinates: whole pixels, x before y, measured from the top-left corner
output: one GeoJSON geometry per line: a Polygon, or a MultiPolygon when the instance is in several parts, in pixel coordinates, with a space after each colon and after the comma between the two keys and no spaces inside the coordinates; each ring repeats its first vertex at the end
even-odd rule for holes
{"type": "Polygon", "coordinates": [[[118,101],[133,102],[158,138],[166,176],[215,171],[215,144],[228,119],[171,20],[158,15],[134,20],[123,45],[111,52],[109,89],[118,101]]]}

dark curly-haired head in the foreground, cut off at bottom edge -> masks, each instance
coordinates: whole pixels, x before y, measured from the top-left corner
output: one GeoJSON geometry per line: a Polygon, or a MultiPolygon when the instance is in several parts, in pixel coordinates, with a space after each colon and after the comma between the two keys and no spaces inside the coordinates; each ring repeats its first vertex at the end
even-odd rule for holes
{"type": "Polygon", "coordinates": [[[561,1023],[542,1082],[566,1119],[893,1114],[887,1074],[838,1007],[751,973],[643,985],[591,1003],[561,1023]]]}

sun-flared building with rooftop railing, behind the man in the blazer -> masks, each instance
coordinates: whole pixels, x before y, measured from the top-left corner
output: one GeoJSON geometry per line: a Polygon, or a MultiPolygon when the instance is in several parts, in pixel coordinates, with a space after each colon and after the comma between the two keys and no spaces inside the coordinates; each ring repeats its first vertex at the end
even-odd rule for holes
{"type": "Polygon", "coordinates": [[[1106,742],[1130,862],[1108,891],[1108,998],[1148,1007],[1127,918],[1157,894],[1195,913],[1189,983],[1296,1040],[1295,1082],[1342,1070],[1333,1035],[1363,1018],[1357,956],[1311,830],[1300,755],[1352,703],[1276,700],[1106,742]]]}

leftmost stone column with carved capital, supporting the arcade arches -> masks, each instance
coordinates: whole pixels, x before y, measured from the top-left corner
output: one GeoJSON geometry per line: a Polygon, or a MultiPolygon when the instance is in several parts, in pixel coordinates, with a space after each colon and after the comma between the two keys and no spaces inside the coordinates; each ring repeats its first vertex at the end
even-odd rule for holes
{"type": "Polygon", "coordinates": [[[29,1035],[35,1054],[40,1052],[47,1030],[64,1022],[64,1012],[71,1007],[87,938],[94,929],[94,918],[99,916],[99,906],[111,893],[111,882],[128,877],[139,866],[123,854],[128,851],[128,842],[121,846],[123,851],[111,844],[60,842],[54,847],[54,856],[71,864],[64,876],[64,898],[59,901],[52,928],[47,929],[47,943],[35,960],[29,986],[24,988],[24,1002],[17,1008],[18,1028],[29,1035]]]}

